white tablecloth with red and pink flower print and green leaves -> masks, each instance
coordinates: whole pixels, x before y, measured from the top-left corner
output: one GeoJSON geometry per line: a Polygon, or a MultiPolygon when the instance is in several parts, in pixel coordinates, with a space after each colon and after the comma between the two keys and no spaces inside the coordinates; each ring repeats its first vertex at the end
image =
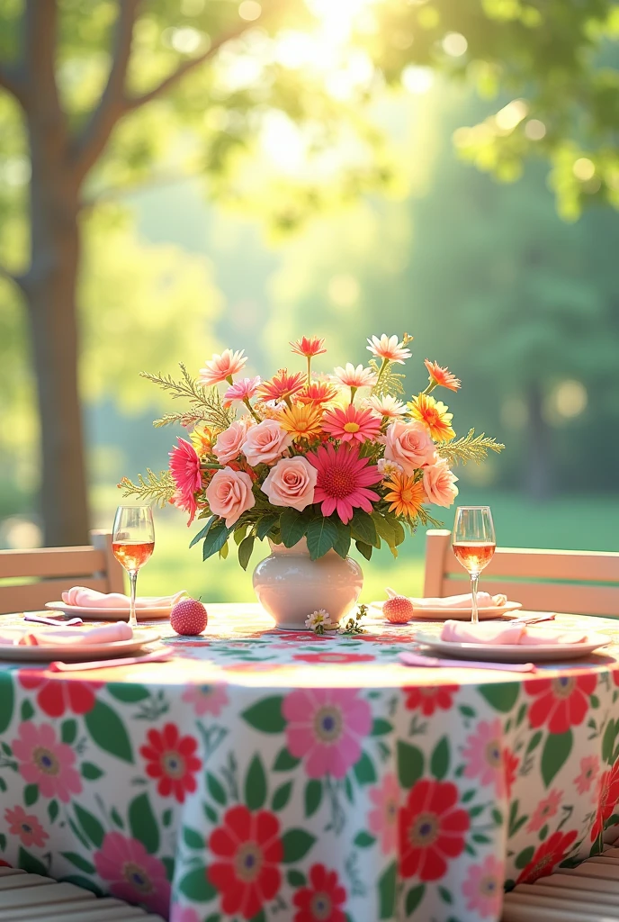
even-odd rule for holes
{"type": "Polygon", "coordinates": [[[162,626],[169,662],[0,665],[0,863],[172,922],[494,922],[504,883],[619,822],[619,646],[526,678],[406,668],[415,625],[209,610],[201,638],[162,626]]]}

